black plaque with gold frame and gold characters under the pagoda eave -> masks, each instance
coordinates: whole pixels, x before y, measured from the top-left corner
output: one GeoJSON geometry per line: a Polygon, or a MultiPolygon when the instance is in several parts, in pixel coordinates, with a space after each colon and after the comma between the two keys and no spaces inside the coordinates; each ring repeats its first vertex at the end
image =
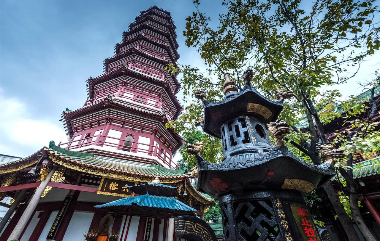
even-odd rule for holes
{"type": "Polygon", "coordinates": [[[136,184],[137,182],[130,182],[123,179],[103,176],[101,178],[97,193],[111,196],[128,197],[132,196],[133,192],[130,191],[125,185],[133,186],[136,184]]]}

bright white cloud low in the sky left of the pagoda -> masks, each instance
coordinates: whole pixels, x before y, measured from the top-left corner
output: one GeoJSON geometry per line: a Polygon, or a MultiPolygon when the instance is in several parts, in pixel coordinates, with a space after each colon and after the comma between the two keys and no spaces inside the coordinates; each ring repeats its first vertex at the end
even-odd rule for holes
{"type": "Polygon", "coordinates": [[[33,118],[24,102],[6,97],[3,91],[0,92],[2,154],[25,157],[47,146],[51,140],[67,140],[62,127],[44,119],[33,118]]]}

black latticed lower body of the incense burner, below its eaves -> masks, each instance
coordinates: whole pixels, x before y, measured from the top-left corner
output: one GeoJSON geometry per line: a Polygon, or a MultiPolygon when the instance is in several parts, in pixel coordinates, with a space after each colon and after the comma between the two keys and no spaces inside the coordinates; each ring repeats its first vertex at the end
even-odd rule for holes
{"type": "Polygon", "coordinates": [[[321,241],[299,192],[227,194],[219,205],[225,241],[321,241]]]}

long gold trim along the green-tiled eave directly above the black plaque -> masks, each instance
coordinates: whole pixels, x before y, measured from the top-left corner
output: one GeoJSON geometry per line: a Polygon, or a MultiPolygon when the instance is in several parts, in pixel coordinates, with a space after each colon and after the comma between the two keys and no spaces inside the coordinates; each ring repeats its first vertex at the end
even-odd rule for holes
{"type": "MultiPolygon", "coordinates": [[[[123,174],[123,173],[113,172],[107,169],[103,170],[97,167],[73,164],[70,162],[70,160],[65,162],[65,161],[62,161],[60,158],[57,158],[52,155],[49,155],[49,158],[51,158],[51,160],[54,163],[60,164],[63,167],[73,169],[75,171],[86,172],[88,174],[94,174],[94,175],[99,175],[99,176],[108,176],[112,178],[122,178],[123,180],[131,180],[135,182],[153,182],[154,178],[157,176],[157,175],[152,175],[151,177],[140,177],[138,174],[135,174],[135,175],[123,174]]],[[[183,176],[163,178],[160,175],[158,175],[158,177],[160,178],[161,183],[175,183],[184,178],[183,176]]]]}

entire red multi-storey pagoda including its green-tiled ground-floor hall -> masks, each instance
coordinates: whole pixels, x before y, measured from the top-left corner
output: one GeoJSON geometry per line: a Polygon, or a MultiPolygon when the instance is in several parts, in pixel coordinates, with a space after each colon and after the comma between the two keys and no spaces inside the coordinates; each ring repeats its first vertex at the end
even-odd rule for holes
{"type": "Polygon", "coordinates": [[[165,69],[179,58],[175,29],[168,11],[142,11],[105,59],[104,73],[87,80],[84,105],[63,111],[70,141],[0,164],[0,199],[12,198],[1,240],[84,240],[91,232],[120,241],[176,240],[172,218],[94,207],[133,196],[126,185],[154,180],[177,187],[178,200],[203,217],[214,199],[177,170],[173,156],[184,140],[165,127],[182,111],[179,82],[165,69]]]}

